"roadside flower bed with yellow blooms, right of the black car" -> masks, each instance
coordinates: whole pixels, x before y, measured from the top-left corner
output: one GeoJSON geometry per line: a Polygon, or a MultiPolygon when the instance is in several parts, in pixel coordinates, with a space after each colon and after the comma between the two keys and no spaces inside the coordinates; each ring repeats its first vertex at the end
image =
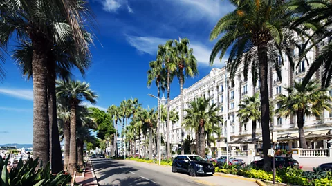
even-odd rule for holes
{"type": "MultiPolygon", "coordinates": [[[[216,167],[216,172],[268,181],[273,179],[272,172],[255,169],[255,167],[251,166],[223,165],[222,167],[216,167]]],[[[291,183],[303,186],[332,186],[332,173],[317,168],[314,168],[313,172],[303,171],[299,167],[278,168],[275,173],[275,180],[279,183],[291,183]]]]}

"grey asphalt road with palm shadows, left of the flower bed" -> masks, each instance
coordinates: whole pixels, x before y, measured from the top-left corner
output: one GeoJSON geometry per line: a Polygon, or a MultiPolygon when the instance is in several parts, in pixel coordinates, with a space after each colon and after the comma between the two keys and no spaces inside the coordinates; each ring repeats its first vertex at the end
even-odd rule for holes
{"type": "Polygon", "coordinates": [[[172,173],[171,167],[135,162],[131,160],[93,159],[93,169],[100,186],[130,185],[246,185],[254,182],[221,176],[197,176],[172,173]]]}

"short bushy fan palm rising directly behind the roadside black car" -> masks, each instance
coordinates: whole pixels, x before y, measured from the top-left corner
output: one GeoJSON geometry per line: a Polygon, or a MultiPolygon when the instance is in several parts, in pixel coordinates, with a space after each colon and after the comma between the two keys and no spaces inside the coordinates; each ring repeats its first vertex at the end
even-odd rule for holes
{"type": "MultiPolygon", "coordinates": [[[[205,156],[205,138],[213,135],[212,131],[219,131],[219,122],[223,118],[218,115],[219,108],[211,99],[202,97],[190,102],[190,109],[185,109],[187,115],[183,121],[185,129],[194,130],[196,133],[196,149],[199,156],[205,156]]],[[[217,133],[218,134],[218,133],[217,133]]]]}

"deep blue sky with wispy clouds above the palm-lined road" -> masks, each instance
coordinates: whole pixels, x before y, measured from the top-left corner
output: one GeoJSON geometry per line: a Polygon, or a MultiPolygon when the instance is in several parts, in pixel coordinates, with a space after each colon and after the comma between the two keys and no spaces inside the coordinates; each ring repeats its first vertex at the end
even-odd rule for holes
{"type": "MultiPolygon", "coordinates": [[[[233,10],[222,0],[94,0],[89,1],[98,23],[93,65],[83,78],[98,93],[100,109],[119,105],[137,97],[143,106],[156,106],[156,86],[147,88],[149,61],[156,59],[158,44],[167,39],[187,37],[198,59],[199,76],[188,79],[185,87],[210,73],[208,58],[216,41],[209,34],[216,21],[233,10]]],[[[224,58],[226,59],[226,58],[224,58]]],[[[224,61],[224,59],[222,61],[224,61]]],[[[223,66],[219,59],[214,67],[223,66]]],[[[0,144],[32,143],[33,84],[26,80],[8,57],[6,78],[0,83],[0,144]]],[[[178,80],[171,86],[171,99],[179,94],[178,80]]]]}

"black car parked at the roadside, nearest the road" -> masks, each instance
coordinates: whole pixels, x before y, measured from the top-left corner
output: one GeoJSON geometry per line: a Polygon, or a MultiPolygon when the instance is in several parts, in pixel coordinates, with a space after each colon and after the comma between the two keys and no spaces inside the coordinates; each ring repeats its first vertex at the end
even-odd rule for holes
{"type": "Polygon", "coordinates": [[[185,171],[190,176],[213,175],[214,166],[212,162],[204,160],[197,155],[180,155],[174,158],[172,163],[172,172],[185,171]]]}

